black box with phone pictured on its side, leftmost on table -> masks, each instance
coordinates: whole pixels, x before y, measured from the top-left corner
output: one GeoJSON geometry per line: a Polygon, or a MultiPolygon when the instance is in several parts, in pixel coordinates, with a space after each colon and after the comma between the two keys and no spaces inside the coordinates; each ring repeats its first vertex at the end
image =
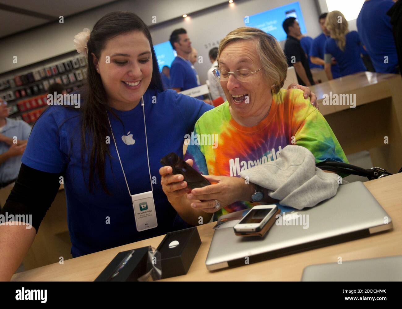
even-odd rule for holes
{"type": "Polygon", "coordinates": [[[119,252],[94,281],[137,281],[147,272],[150,246],[119,252]]]}

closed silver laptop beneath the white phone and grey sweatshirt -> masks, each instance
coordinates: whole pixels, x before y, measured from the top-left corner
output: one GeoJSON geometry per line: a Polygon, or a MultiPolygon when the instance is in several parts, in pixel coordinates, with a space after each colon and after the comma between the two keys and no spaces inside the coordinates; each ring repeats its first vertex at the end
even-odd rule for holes
{"type": "Polygon", "coordinates": [[[340,185],[336,195],[306,210],[283,213],[264,238],[240,237],[233,227],[214,232],[209,270],[328,246],[389,230],[389,215],[362,182],[340,185]]]}

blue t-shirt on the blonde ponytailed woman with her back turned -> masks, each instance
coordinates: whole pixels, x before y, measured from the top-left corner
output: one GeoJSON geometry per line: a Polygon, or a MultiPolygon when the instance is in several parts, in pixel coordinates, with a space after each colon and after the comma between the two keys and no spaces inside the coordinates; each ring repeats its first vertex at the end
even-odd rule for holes
{"type": "Polygon", "coordinates": [[[332,57],[335,57],[340,70],[340,76],[366,71],[366,67],[360,56],[361,43],[359,34],[356,31],[351,31],[345,37],[346,45],[344,51],[341,51],[336,41],[330,38],[325,42],[324,54],[330,54],[332,57]]]}

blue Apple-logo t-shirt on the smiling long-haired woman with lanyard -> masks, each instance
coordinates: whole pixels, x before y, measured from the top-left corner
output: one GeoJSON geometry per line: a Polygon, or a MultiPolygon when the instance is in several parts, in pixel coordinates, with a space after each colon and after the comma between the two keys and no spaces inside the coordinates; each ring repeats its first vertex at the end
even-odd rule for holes
{"type": "MultiPolygon", "coordinates": [[[[183,157],[185,134],[191,134],[197,119],[213,107],[172,90],[158,92],[152,89],[144,94],[144,104],[158,226],[142,232],[138,232],[135,226],[131,196],[112,136],[109,136],[111,160],[108,157],[105,160],[105,180],[111,195],[103,191],[97,177],[97,187],[90,193],[87,187],[90,162],[88,156],[84,163],[81,161],[78,109],[51,106],[33,126],[22,162],[39,171],[63,175],[74,257],[189,227],[162,191],[160,159],[170,152],[183,157]]],[[[129,111],[113,111],[123,122],[109,113],[131,194],[150,191],[143,108],[138,104],[129,111]]],[[[105,136],[107,141],[108,136],[105,136]]],[[[89,149],[91,145],[88,145],[89,149]]]]}

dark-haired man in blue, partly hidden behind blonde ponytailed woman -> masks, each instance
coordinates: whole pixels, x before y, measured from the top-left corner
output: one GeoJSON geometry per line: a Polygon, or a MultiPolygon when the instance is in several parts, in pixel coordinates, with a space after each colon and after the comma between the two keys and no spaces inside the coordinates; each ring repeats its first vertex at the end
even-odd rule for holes
{"type": "MultiPolygon", "coordinates": [[[[325,42],[330,39],[330,34],[325,28],[325,19],[328,13],[323,13],[320,15],[318,18],[318,21],[320,22],[320,27],[322,30],[322,33],[316,37],[313,42],[311,43],[311,48],[308,53],[310,56],[309,59],[312,63],[316,65],[320,65],[322,68],[324,68],[325,61],[324,61],[324,46],[325,42]]],[[[332,73],[332,78],[338,78],[340,77],[340,72],[339,72],[339,67],[338,64],[336,63],[335,59],[332,59],[331,61],[331,73],[332,73]]]]}

